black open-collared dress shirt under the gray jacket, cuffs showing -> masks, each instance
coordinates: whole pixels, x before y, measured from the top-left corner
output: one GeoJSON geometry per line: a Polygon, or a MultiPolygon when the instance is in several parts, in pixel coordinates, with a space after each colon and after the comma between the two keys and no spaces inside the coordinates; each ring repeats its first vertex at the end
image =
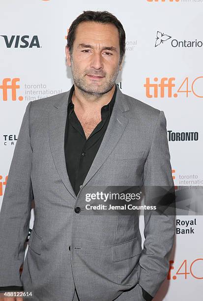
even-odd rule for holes
{"type": "MultiPolygon", "coordinates": [[[[74,111],[74,104],[72,102],[72,95],[74,90],[75,86],[73,85],[68,97],[64,152],[68,177],[77,196],[80,190],[80,186],[83,185],[83,182],[87,176],[87,172],[100,147],[107,126],[109,124],[109,120],[115,104],[117,86],[115,88],[115,92],[111,101],[101,108],[101,121],[96,125],[94,130],[87,138],[83,127],[74,111]]],[[[0,287],[0,291],[23,291],[23,287],[0,287]]],[[[153,297],[151,297],[143,288],[142,291],[146,301],[151,301],[153,299],[153,297]]]]}

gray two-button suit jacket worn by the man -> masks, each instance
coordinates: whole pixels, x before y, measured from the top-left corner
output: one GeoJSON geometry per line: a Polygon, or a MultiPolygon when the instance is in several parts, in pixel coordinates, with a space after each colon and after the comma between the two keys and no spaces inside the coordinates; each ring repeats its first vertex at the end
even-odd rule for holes
{"type": "Polygon", "coordinates": [[[0,286],[23,285],[34,301],[72,301],[75,286],[81,301],[135,301],[137,283],[154,296],[168,273],[174,216],[145,214],[142,249],[137,215],[88,216],[74,208],[86,205],[87,185],[174,185],[164,112],[118,89],[105,136],[76,197],[64,156],[68,95],[27,105],[0,211],[0,286]]]}

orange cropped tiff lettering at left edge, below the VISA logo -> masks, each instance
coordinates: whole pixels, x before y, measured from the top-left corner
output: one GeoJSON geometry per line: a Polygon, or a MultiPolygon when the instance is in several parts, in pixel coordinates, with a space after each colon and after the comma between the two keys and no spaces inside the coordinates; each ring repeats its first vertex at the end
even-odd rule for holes
{"type": "MultiPolygon", "coordinates": [[[[16,100],[17,98],[17,89],[20,89],[20,85],[17,85],[17,82],[20,81],[20,78],[4,78],[2,80],[2,85],[0,85],[0,90],[2,90],[3,101],[8,100],[8,90],[11,90],[11,100],[16,100]]],[[[1,98],[1,97],[0,97],[1,98]]],[[[18,96],[18,100],[22,101],[23,96],[18,96]]]]}

